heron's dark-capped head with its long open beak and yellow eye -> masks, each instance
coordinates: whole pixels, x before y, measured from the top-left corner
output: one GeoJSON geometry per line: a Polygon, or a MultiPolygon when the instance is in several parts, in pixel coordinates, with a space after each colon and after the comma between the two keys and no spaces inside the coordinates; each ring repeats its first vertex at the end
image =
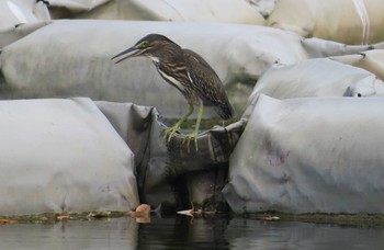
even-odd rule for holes
{"type": "Polygon", "coordinates": [[[147,57],[159,57],[159,55],[167,47],[179,46],[170,41],[168,37],[159,34],[149,34],[139,39],[134,46],[125,49],[124,52],[115,55],[112,59],[124,56],[123,58],[115,61],[118,64],[129,57],[147,56],[147,57]]]}

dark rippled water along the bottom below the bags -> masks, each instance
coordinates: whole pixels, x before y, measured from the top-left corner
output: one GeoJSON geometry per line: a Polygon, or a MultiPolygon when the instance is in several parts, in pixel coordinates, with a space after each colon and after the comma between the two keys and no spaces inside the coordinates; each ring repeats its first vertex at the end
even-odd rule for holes
{"type": "Polygon", "coordinates": [[[384,249],[384,229],[234,218],[153,217],[0,226],[0,249],[384,249]]]}

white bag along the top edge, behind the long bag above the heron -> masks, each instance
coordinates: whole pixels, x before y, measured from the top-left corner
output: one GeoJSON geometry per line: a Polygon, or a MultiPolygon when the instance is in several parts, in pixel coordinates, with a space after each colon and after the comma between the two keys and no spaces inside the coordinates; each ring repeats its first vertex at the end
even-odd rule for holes
{"type": "Polygon", "coordinates": [[[116,0],[77,19],[223,22],[263,25],[255,5],[236,0],[116,0]],[[236,10],[236,11],[234,11],[236,10]]]}

